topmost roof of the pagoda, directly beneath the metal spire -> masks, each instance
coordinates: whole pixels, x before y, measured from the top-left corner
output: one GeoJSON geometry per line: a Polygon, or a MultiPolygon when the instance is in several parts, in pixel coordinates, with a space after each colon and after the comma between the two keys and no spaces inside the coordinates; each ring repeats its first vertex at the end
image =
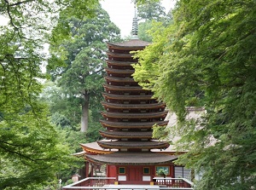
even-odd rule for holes
{"type": "Polygon", "coordinates": [[[149,43],[140,39],[131,39],[122,43],[107,43],[112,49],[144,49],[149,43]]]}

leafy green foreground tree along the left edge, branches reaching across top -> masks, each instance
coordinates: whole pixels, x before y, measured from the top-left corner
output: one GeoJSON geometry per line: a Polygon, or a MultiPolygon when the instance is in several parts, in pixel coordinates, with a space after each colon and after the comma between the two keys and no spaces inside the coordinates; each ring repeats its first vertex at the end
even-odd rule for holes
{"type": "MultiPolygon", "coordinates": [[[[0,188],[42,189],[57,182],[69,152],[62,145],[46,105],[38,101],[45,76],[44,44],[58,11],[92,14],[96,1],[1,1],[0,13],[0,188]],[[89,11],[87,11],[89,10],[89,11]]],[[[59,30],[65,33],[64,27],[59,30]]]]}

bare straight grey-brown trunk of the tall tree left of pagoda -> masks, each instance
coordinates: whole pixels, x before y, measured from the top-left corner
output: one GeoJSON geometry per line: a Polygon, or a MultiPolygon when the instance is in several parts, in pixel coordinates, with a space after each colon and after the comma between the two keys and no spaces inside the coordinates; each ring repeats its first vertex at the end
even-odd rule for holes
{"type": "Polygon", "coordinates": [[[86,132],[88,130],[89,122],[89,95],[84,92],[84,101],[82,103],[82,115],[81,115],[81,132],[86,132]]]}

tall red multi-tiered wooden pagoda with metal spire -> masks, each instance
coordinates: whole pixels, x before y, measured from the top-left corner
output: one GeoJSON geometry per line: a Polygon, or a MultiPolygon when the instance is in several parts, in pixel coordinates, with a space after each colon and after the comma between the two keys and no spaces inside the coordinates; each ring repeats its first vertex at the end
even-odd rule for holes
{"type": "MultiPolygon", "coordinates": [[[[123,43],[107,43],[102,141],[81,144],[85,160],[93,165],[106,164],[106,175],[116,177],[119,184],[149,184],[158,170],[174,177],[174,152],[169,143],[154,140],[153,125],[166,126],[165,103],[157,101],[150,90],[143,89],[132,78],[131,51],[148,46],[137,37],[137,12],[133,19],[132,38],[123,43]]],[[[88,166],[86,168],[88,170],[88,166]]]]}

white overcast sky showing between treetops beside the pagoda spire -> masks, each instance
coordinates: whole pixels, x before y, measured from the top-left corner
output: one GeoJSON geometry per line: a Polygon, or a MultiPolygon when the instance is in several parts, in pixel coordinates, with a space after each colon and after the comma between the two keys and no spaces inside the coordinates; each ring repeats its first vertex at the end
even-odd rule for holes
{"type": "MultiPolygon", "coordinates": [[[[174,7],[175,2],[176,0],[161,0],[166,12],[174,7]]],[[[134,17],[134,3],[131,0],[102,0],[102,9],[108,12],[110,20],[119,27],[121,36],[129,36],[134,17]]]]}

